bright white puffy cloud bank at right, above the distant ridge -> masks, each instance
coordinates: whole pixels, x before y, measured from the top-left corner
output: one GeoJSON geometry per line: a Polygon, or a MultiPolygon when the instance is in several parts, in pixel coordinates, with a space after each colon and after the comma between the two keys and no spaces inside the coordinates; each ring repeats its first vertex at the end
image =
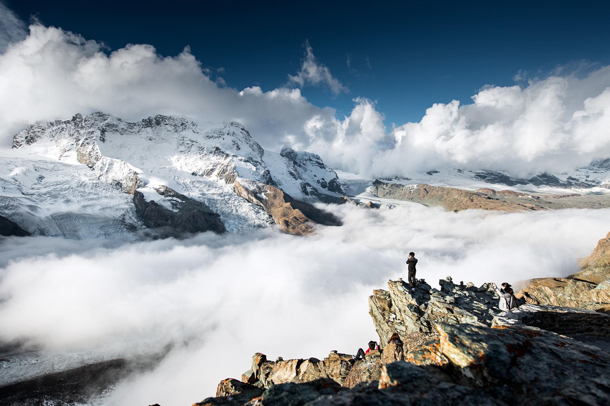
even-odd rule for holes
{"type": "Polygon", "coordinates": [[[357,120],[364,100],[357,99],[349,118],[318,124],[313,137],[309,131],[311,148],[329,151],[329,162],[339,168],[371,177],[447,166],[517,176],[563,173],[610,157],[609,95],[610,66],[584,77],[530,80],[523,88],[486,86],[472,96],[472,104],[437,103],[418,123],[393,127],[389,144],[376,110],[361,121],[363,131],[356,137],[339,130],[357,120]]]}

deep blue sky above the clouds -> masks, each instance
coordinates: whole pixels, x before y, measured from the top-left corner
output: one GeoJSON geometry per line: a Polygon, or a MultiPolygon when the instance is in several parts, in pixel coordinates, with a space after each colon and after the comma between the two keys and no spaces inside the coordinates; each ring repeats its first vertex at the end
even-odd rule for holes
{"type": "Polygon", "coordinates": [[[469,103],[486,84],[514,85],[520,70],[544,78],[557,65],[610,63],[608,2],[488,3],[6,2],[24,21],[34,15],[110,50],[148,43],[176,55],[189,45],[238,90],[287,82],[309,40],[349,93],[310,86],[304,96],[339,116],[353,98],[373,99],[387,126],[419,121],[436,102],[469,103]]]}

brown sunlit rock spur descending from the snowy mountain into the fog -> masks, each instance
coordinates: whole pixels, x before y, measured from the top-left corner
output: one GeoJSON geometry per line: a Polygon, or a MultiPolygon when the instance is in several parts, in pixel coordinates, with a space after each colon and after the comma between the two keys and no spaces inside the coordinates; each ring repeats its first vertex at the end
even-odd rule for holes
{"type": "Polygon", "coordinates": [[[285,232],[307,235],[314,232],[316,224],[342,224],[332,213],[293,199],[280,188],[244,179],[236,180],[234,188],[239,196],[264,208],[285,232]]]}

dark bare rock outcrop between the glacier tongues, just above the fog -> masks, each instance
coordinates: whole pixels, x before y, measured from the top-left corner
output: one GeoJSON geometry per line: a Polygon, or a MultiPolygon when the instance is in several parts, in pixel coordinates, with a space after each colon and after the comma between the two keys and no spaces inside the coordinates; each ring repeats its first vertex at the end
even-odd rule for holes
{"type": "Polygon", "coordinates": [[[134,205],[146,226],[155,229],[155,233],[160,234],[160,237],[179,236],[182,233],[225,231],[220,215],[213,213],[202,202],[190,199],[165,186],[157,188],[156,191],[159,194],[159,201],[163,201],[166,206],[152,199],[146,201],[144,194],[137,190],[134,192],[134,205]]]}

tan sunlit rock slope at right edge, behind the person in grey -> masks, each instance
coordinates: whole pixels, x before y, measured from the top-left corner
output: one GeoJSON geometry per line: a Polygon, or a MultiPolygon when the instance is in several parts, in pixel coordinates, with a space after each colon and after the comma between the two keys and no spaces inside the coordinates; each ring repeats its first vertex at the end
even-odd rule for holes
{"type": "Polygon", "coordinates": [[[529,304],[610,312],[610,233],[580,264],[582,271],[565,278],[528,280],[527,286],[515,296],[529,304]]]}

